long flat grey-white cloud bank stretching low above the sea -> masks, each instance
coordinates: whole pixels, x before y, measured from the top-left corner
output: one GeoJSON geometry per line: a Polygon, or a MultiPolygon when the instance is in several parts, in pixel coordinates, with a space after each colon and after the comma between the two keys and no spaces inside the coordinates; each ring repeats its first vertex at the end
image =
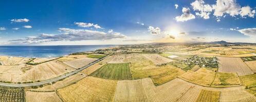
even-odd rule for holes
{"type": "Polygon", "coordinates": [[[9,40],[16,43],[42,43],[50,41],[82,41],[82,40],[110,40],[114,38],[125,38],[117,32],[105,33],[92,30],[75,30],[68,28],[59,28],[61,34],[40,34],[39,36],[29,36],[23,39],[9,40]]]}

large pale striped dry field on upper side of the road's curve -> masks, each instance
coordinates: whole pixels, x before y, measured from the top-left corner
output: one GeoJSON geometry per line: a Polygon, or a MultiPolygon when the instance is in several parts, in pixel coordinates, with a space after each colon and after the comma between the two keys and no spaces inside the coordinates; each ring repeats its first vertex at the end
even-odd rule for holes
{"type": "Polygon", "coordinates": [[[50,62],[32,66],[31,69],[27,70],[24,74],[22,74],[20,82],[43,81],[43,80],[59,77],[59,75],[62,75],[74,70],[75,70],[74,68],[60,61],[53,60],[50,62]]]}

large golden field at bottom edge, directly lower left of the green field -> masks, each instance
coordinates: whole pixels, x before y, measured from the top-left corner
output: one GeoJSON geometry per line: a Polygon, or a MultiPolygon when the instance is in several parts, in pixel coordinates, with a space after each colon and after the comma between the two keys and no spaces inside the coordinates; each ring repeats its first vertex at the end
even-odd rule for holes
{"type": "Polygon", "coordinates": [[[116,85],[117,81],[86,77],[58,93],[63,101],[112,101],[116,85]]]}

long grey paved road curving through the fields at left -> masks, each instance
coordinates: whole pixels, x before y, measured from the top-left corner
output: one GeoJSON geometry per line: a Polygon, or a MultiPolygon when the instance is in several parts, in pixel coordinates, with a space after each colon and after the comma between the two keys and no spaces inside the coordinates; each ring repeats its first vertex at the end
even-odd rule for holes
{"type": "MultiPolygon", "coordinates": [[[[112,53],[112,54],[113,54],[113,53],[112,53]]],[[[110,55],[112,55],[112,54],[110,54],[110,55]]],[[[86,65],[86,66],[84,66],[84,67],[82,67],[82,68],[80,68],[80,69],[77,69],[77,70],[75,70],[75,71],[66,73],[66,74],[61,75],[60,77],[57,77],[57,78],[45,80],[45,81],[42,81],[42,82],[28,83],[28,84],[0,83],[0,86],[5,86],[5,87],[30,87],[30,86],[44,85],[44,84],[51,83],[51,82],[57,82],[57,81],[59,81],[59,80],[61,80],[61,79],[65,79],[65,78],[69,77],[70,75],[76,74],[76,73],[82,71],[83,69],[88,68],[88,67],[91,66],[91,65],[94,65],[95,63],[97,63],[97,62],[99,62],[99,61],[105,59],[106,57],[108,57],[108,56],[110,56],[110,55],[107,55],[107,56],[105,56],[105,57],[102,58],[102,59],[98,59],[98,60],[96,60],[96,61],[94,61],[94,62],[92,62],[92,63],[90,63],[90,64],[88,64],[88,65],[86,65]]]]}

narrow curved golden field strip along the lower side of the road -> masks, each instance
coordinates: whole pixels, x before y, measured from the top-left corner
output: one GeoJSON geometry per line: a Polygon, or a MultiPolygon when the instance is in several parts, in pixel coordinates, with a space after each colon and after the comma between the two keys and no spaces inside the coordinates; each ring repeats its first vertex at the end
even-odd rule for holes
{"type": "Polygon", "coordinates": [[[30,91],[36,91],[36,92],[44,92],[44,91],[54,91],[63,87],[66,87],[68,85],[71,84],[75,84],[78,81],[82,80],[83,78],[85,78],[86,75],[84,73],[77,73],[74,75],[71,75],[70,77],[62,80],[62,81],[58,81],[56,83],[53,83],[52,85],[46,85],[42,88],[37,88],[37,89],[29,89],[30,91]]]}

